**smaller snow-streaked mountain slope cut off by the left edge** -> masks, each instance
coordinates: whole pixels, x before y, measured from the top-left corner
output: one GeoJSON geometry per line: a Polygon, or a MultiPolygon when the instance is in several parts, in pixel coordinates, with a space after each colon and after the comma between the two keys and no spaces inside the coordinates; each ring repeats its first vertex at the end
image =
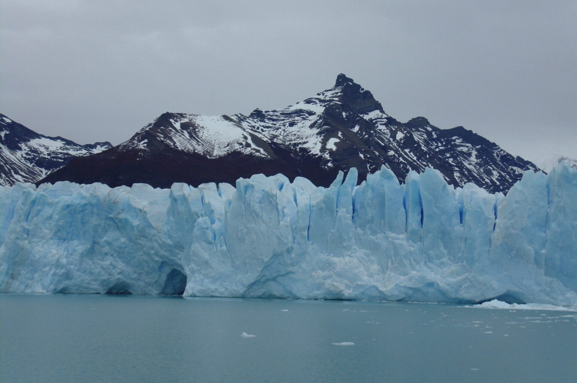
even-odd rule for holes
{"type": "Polygon", "coordinates": [[[110,142],[80,145],[48,137],[0,114],[0,185],[37,182],[78,156],[102,152],[110,142]]]}

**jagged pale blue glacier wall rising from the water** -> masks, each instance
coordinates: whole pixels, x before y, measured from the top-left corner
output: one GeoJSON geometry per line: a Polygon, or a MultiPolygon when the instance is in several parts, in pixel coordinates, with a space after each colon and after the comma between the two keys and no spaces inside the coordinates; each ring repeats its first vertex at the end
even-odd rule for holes
{"type": "Polygon", "coordinates": [[[577,169],[0,186],[0,291],[577,305],[577,169]]]}

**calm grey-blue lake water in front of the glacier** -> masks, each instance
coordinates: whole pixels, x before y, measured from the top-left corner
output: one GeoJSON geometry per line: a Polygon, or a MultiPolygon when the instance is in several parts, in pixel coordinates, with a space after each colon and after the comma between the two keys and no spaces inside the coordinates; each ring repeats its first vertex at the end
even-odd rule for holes
{"type": "Polygon", "coordinates": [[[574,382],[577,313],[0,294],[3,382],[574,382]],[[242,337],[245,332],[254,337],[242,337]],[[353,346],[333,343],[350,342],[353,346]]]}

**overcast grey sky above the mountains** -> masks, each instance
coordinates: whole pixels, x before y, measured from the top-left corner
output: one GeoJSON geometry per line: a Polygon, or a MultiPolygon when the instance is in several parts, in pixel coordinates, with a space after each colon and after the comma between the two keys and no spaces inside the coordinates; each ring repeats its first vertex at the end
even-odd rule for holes
{"type": "Polygon", "coordinates": [[[345,73],[385,112],[577,157],[577,2],[0,0],[0,112],[86,144],[247,114],[345,73]]]}

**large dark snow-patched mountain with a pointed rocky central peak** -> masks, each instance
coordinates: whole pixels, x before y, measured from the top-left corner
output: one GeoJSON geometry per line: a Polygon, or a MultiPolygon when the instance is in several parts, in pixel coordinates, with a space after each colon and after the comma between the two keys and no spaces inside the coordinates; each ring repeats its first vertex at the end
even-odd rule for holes
{"type": "Polygon", "coordinates": [[[328,186],[339,170],[355,167],[362,181],[382,165],[399,179],[431,167],[451,185],[473,182],[489,192],[506,192],[523,171],[538,170],[462,126],[439,129],[424,117],[401,123],[372,93],[339,74],[331,89],[279,110],[166,112],[130,140],[73,159],[42,181],[170,187],[282,173],[328,186]]]}

